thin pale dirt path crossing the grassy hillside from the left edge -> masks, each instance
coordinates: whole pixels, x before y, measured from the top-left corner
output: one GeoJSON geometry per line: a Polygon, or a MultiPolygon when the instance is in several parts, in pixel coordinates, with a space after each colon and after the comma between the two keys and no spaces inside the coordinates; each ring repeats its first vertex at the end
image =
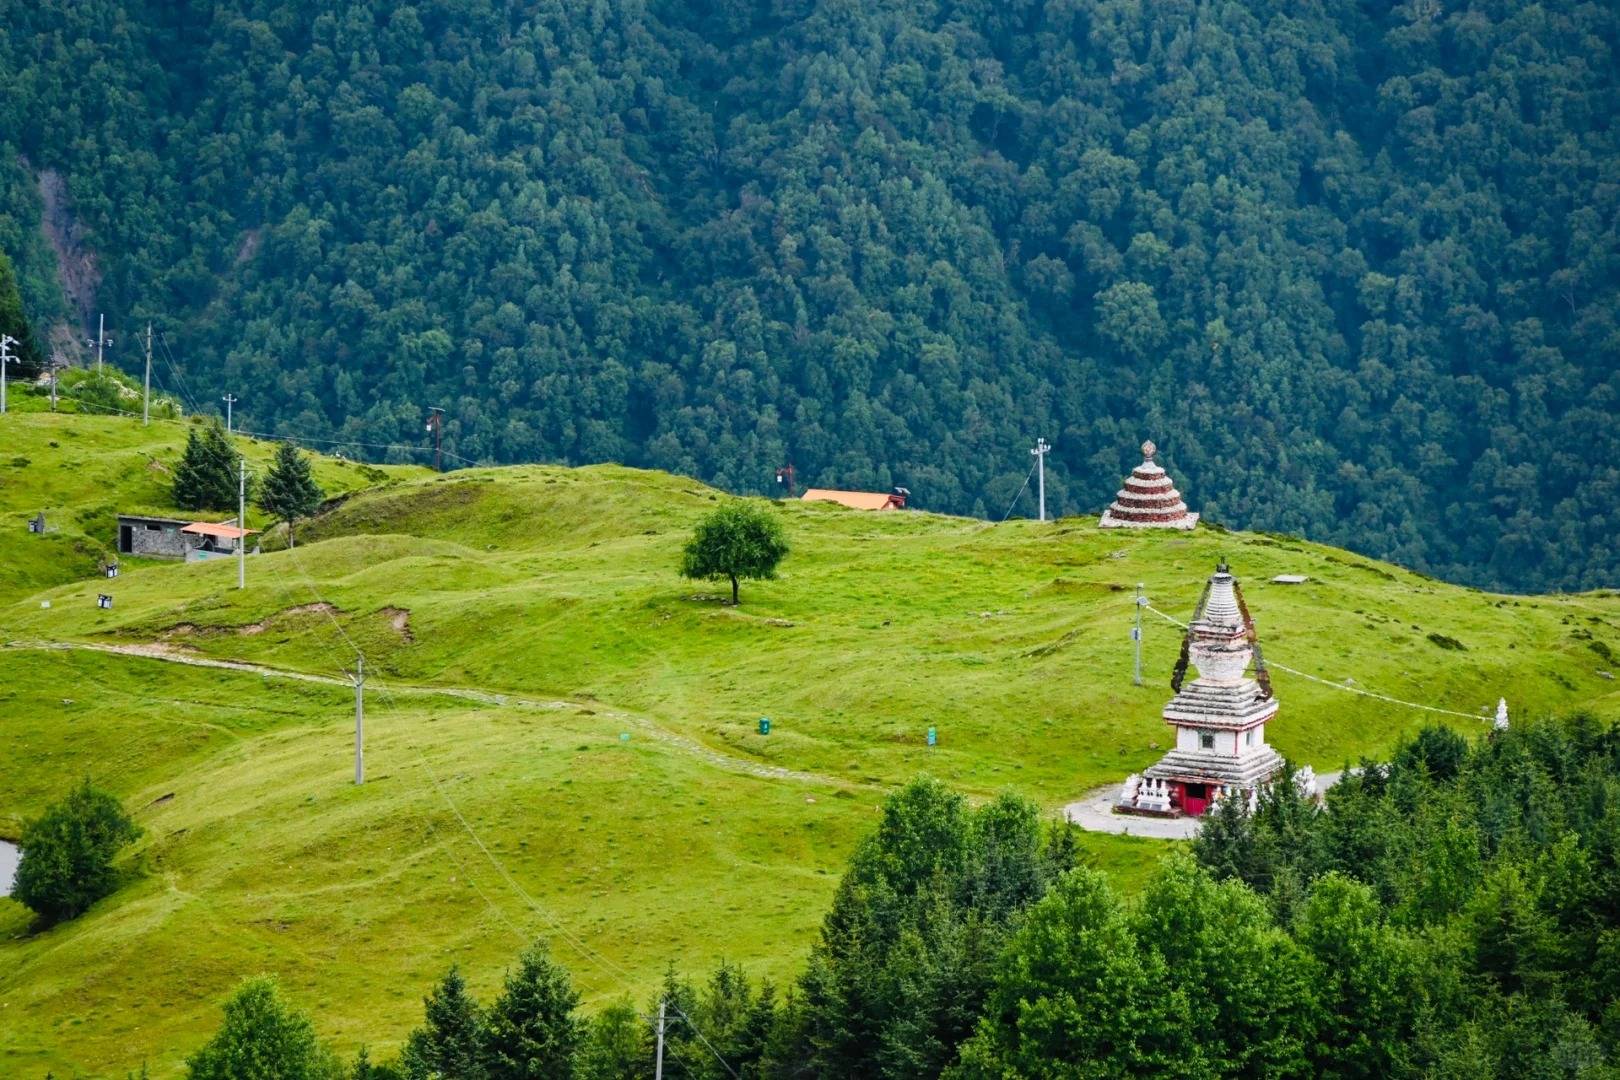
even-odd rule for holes
{"type": "MultiPolygon", "coordinates": [[[[97,641],[6,641],[8,649],[40,649],[40,651],[57,651],[57,653],[110,653],[113,656],[134,656],[147,661],[162,661],[165,664],[185,664],[186,667],[212,667],[219,670],[230,672],[248,672],[254,675],[262,675],[266,678],[290,678],[293,682],[319,683],[324,687],[348,687],[352,685],[348,678],[339,675],[318,675],[313,672],[301,672],[287,667],[271,667],[267,664],[251,664],[248,661],[220,661],[211,656],[191,656],[181,653],[170,644],[160,643],[131,643],[131,644],[110,644],[97,641]]],[[[502,693],[499,690],[484,690],[478,687],[433,687],[420,683],[400,683],[400,682],[382,682],[376,677],[368,677],[366,685],[382,695],[410,695],[410,696],[441,696],[441,698],[457,698],[460,701],[475,701],[478,704],[492,704],[512,709],[546,709],[546,711],[585,711],[596,716],[608,717],[611,721],[619,721],[627,727],[638,729],[642,733],[656,738],[666,746],[684,753],[692,758],[698,758],[716,769],[724,769],[727,772],[740,772],[744,776],[755,776],[765,780],[792,780],[795,784],[816,784],[821,787],[868,787],[855,780],[844,780],[833,776],[823,776],[820,772],[805,772],[802,769],[787,769],[782,766],[765,764],[763,761],[750,761],[748,758],[739,758],[735,755],[727,755],[721,750],[698,742],[688,735],[680,735],[672,732],[658,721],[640,716],[635,712],[625,712],[622,709],[603,708],[596,703],[585,701],[564,701],[564,699],[539,699],[539,698],[523,698],[518,695],[502,693]]]]}

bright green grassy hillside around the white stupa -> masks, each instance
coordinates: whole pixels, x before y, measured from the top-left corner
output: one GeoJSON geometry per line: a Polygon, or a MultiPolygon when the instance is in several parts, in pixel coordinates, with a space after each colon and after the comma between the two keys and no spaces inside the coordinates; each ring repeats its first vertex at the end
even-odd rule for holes
{"type": "MultiPolygon", "coordinates": [[[[104,489],[123,505],[120,478],[130,497],[160,491],[138,426],[18,431],[32,460],[29,491],[5,486],[18,533],[29,499],[83,513],[104,489]],[[92,437],[100,452],[81,452],[92,437]],[[42,476],[65,487],[34,487],[42,476]]],[[[322,463],[322,483],[347,468],[322,463]]],[[[889,785],[927,769],[1056,811],[1150,763],[1178,638],[1150,617],[1134,687],[1134,585],[1186,617],[1221,555],[1290,667],[1481,716],[1503,695],[1520,712],[1620,712],[1599,674],[1620,649],[1617,594],[1490,596],[1259,534],[791,504],[782,576],[745,583],[731,609],[674,575],[721,497],[692,481],[608,466],[392,479],[296,551],[251,559],[243,591],[230,565],[147,563],[105,612],[104,581],[52,580],[53,563],[5,581],[0,832],[89,772],[147,836],[134,881],[73,925],[29,933],[0,902],[3,1070],[168,1067],[258,970],[340,1046],[386,1049],[437,970],[457,960],[488,989],[530,934],[552,938],[596,1002],[640,996],[669,962],[786,978],[889,785]],[[1268,583],[1285,572],[1311,581],[1268,583]],[[363,789],[337,685],[356,646],[373,672],[363,789]]],[[[1426,719],[1285,672],[1275,687],[1273,742],[1319,769],[1426,719]]],[[[1163,848],[1085,850],[1129,884],[1163,848]]]]}

